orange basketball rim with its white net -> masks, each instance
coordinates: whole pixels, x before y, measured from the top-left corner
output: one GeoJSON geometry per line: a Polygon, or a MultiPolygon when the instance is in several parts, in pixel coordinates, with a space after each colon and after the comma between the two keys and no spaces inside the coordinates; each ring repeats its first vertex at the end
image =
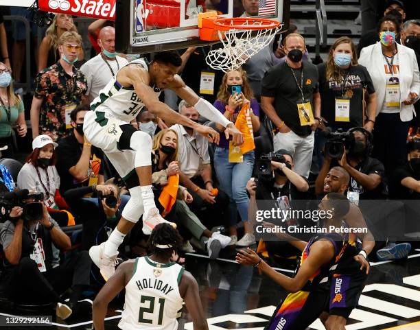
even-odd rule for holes
{"type": "Polygon", "coordinates": [[[219,38],[222,42],[222,48],[209,51],[206,62],[212,69],[224,72],[238,69],[271,43],[281,29],[278,21],[258,17],[202,17],[198,26],[201,40],[219,38]]]}

